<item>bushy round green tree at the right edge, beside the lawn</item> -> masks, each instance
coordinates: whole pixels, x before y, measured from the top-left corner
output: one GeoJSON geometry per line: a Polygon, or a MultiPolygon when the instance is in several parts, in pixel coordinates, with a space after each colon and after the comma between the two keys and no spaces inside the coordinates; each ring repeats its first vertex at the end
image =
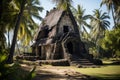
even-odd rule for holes
{"type": "Polygon", "coordinates": [[[112,57],[120,57],[120,29],[106,31],[101,47],[111,51],[112,57]]]}

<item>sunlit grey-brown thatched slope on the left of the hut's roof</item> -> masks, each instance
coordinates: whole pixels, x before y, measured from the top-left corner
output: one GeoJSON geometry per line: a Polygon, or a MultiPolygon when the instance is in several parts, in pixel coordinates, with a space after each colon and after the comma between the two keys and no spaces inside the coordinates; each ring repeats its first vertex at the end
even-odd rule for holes
{"type": "Polygon", "coordinates": [[[53,9],[49,13],[47,13],[46,17],[43,19],[42,23],[39,26],[39,30],[37,31],[34,40],[38,38],[39,32],[42,31],[43,29],[48,28],[50,30],[55,25],[57,25],[63,12],[64,12],[63,10],[53,9]]]}

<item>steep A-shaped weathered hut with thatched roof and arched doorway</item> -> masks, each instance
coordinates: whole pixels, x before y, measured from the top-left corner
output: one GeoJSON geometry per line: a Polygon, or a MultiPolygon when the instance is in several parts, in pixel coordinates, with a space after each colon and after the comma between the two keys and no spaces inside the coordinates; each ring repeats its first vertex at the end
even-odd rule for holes
{"type": "Polygon", "coordinates": [[[72,12],[55,8],[47,11],[34,37],[32,50],[40,60],[82,58],[88,54],[72,12]]]}

